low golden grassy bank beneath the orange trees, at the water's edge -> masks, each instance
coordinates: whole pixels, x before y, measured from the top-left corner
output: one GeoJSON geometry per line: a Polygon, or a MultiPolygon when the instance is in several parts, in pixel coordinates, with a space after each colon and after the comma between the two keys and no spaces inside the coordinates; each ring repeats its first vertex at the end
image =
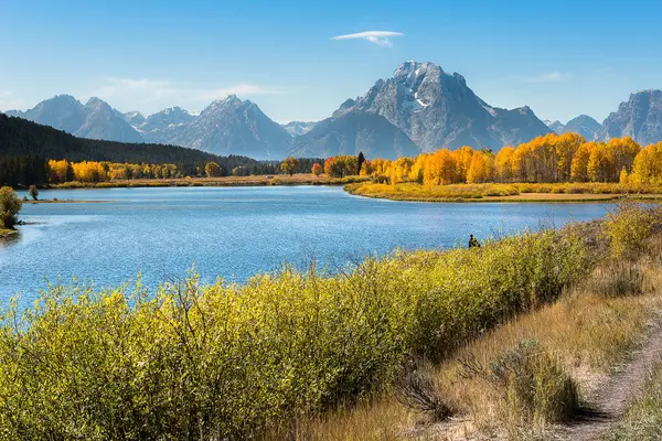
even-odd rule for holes
{"type": "Polygon", "coordinates": [[[357,196],[419,202],[605,202],[662,198],[660,186],[618,183],[389,185],[365,182],[348,184],[345,190],[357,196]]]}

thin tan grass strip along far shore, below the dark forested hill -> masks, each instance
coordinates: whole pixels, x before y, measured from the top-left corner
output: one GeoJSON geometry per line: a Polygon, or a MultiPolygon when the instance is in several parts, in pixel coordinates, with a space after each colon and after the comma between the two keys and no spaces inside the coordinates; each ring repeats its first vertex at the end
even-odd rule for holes
{"type": "Polygon", "coordinates": [[[51,185],[51,189],[107,189],[146,186],[264,186],[264,185],[345,185],[363,182],[365,176],[328,178],[325,175],[298,173],[293,175],[224,176],[224,178],[179,178],[179,179],[135,179],[108,182],[66,182],[51,185]]]}

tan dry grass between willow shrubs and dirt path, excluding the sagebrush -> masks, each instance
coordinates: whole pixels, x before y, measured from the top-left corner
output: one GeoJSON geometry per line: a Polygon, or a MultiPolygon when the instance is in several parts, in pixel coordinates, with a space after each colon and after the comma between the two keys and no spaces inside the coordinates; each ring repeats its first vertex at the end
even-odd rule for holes
{"type": "MultiPolygon", "coordinates": [[[[514,405],[512,388],[489,378],[494,361],[522,341],[535,341],[578,387],[596,392],[662,310],[662,237],[637,262],[608,261],[554,303],[488,332],[436,366],[439,394],[457,411],[435,422],[398,404],[396,394],[300,423],[295,439],[533,439],[544,437],[553,418],[532,418],[514,405]],[[608,276],[608,277],[606,277],[608,276]],[[470,366],[469,368],[467,366],[470,366]],[[485,375],[477,374],[483,370],[485,375]]],[[[544,381],[543,381],[544,383],[544,381]]],[[[544,385],[543,385],[544,386],[544,385]]],[[[649,399],[650,401],[650,399],[649,399]]]]}

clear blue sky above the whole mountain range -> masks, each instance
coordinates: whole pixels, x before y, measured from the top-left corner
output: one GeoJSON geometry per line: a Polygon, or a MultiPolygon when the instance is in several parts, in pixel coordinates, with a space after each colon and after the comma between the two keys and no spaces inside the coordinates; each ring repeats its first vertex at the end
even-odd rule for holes
{"type": "Polygon", "coordinates": [[[416,60],[492,106],[601,121],[662,88],[660,22],[662,2],[639,0],[0,0],[0,110],[71,94],[195,111],[236,93],[279,122],[317,120],[416,60]],[[333,40],[367,31],[402,35],[333,40]]]}

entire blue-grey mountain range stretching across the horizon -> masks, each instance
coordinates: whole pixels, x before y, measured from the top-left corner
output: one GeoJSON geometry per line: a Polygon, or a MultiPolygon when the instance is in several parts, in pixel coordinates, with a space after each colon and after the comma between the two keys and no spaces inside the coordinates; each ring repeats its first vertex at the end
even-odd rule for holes
{"type": "Polygon", "coordinates": [[[10,116],[52,126],[82,138],[182,146],[214,154],[279,160],[289,154],[356,154],[394,159],[437,148],[491,148],[537,136],[578,132],[588,140],[629,136],[642,144],[662,140],[662,92],[632,94],[602,125],[581,115],[567,123],[540,120],[527,106],[494,107],[478,97],[460,74],[434,63],[402,63],[365,95],[346,99],[321,121],[279,125],[250,100],[235,95],[199,115],[180,107],[148,117],[120,112],[99,98],[86,104],[60,95],[10,116]]]}

